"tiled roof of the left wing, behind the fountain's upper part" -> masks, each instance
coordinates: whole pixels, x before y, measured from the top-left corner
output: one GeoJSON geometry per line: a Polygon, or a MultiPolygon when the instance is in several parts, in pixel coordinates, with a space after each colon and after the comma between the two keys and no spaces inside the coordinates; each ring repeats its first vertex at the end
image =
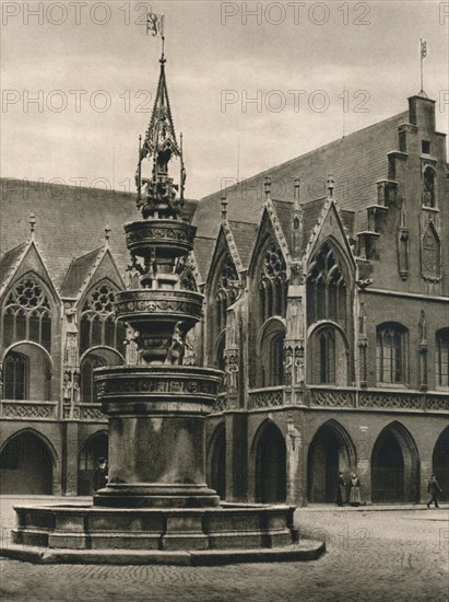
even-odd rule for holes
{"type": "MultiPolygon", "coordinates": [[[[92,253],[97,254],[93,250],[103,244],[106,223],[111,229],[111,254],[120,273],[125,273],[129,255],[123,223],[139,217],[134,193],[13,178],[1,178],[0,188],[0,256],[4,253],[0,276],[4,265],[13,262],[10,254],[28,234],[29,213],[36,216],[36,241],[58,290],[67,281],[67,271],[69,266],[73,268],[75,257],[83,263],[92,253]]],[[[186,199],[182,219],[191,221],[197,202],[186,199]]]]}

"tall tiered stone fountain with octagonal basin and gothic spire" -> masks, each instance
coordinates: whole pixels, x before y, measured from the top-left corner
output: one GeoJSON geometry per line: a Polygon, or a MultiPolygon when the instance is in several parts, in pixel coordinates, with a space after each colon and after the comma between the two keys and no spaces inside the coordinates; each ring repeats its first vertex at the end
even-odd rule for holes
{"type": "Polygon", "coordinates": [[[165,59],[137,173],[142,219],[125,225],[130,287],[115,311],[132,328],[137,366],[96,370],[108,416],[109,481],[93,506],[15,508],[10,556],[36,562],[186,563],[308,559],[322,551],[294,543],[294,507],[221,503],[205,483],[204,420],[222,372],[182,363],[200,321],[202,294],[184,290],[177,266],[193,247],[182,220],[186,171],[165,80],[165,59]],[[168,174],[180,160],[180,184],[168,174]],[[141,164],[152,160],[152,175],[141,164]]]}

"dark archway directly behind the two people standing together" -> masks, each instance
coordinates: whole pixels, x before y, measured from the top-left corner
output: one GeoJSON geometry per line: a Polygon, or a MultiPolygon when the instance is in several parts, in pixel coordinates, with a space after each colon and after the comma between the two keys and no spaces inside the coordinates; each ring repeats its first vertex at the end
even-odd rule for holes
{"type": "Polygon", "coordinates": [[[317,503],[334,502],[339,471],[347,474],[352,463],[344,438],[331,425],[322,425],[308,451],[308,500],[317,503]]]}

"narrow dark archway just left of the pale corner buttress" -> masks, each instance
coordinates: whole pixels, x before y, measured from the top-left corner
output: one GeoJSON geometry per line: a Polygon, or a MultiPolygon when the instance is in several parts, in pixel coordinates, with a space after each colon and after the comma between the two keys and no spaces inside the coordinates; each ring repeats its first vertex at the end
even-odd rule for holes
{"type": "Polygon", "coordinates": [[[256,501],[285,502],[286,449],[280,429],[273,424],[263,428],[256,451],[256,501]]]}

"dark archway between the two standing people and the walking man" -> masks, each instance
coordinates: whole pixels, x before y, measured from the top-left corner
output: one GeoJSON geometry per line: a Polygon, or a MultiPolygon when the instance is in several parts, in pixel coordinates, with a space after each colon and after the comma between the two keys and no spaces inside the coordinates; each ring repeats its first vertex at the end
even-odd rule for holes
{"type": "Polygon", "coordinates": [[[406,429],[399,424],[387,427],[373,448],[373,501],[418,501],[418,466],[416,445],[406,429]]]}

